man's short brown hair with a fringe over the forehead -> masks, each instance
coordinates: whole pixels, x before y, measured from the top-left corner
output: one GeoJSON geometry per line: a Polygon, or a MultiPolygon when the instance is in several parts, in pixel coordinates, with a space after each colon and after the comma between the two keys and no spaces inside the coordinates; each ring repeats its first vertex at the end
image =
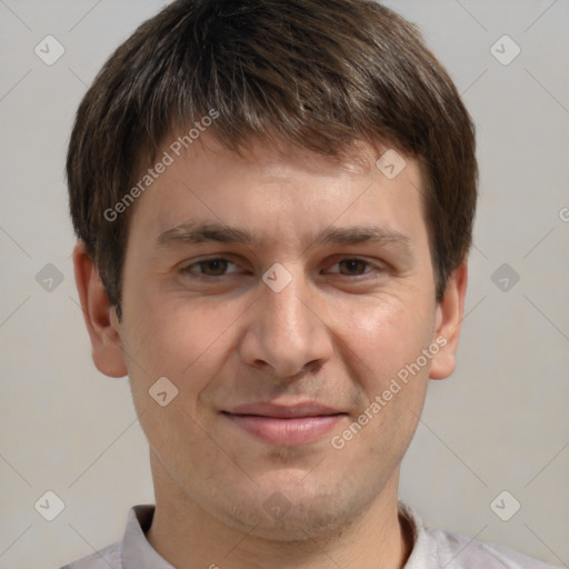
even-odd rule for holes
{"type": "Polygon", "coordinates": [[[69,143],[74,231],[119,318],[133,208],[116,221],[104,211],[168,132],[211,109],[237,152],[260,138],[338,158],[362,140],[418,158],[442,298],[471,242],[475,126],[417,28],[373,0],[178,0],[109,58],[69,143]]]}

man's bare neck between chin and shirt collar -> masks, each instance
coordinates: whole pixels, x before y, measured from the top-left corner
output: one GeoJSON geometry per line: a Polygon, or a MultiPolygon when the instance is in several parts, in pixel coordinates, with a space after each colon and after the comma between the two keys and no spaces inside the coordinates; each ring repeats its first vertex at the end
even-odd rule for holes
{"type": "Polygon", "coordinates": [[[359,518],[333,533],[307,533],[295,541],[267,539],[254,528],[223,523],[163,470],[153,465],[152,471],[156,511],[147,540],[177,569],[401,569],[412,549],[410,528],[397,510],[399,471],[359,518]]]}

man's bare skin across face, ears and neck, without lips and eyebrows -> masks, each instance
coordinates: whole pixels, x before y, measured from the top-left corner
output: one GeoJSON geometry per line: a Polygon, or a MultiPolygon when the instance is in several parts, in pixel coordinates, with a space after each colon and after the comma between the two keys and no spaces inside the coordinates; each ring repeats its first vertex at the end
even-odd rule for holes
{"type": "Polygon", "coordinates": [[[81,243],[73,257],[93,361],[107,376],[128,373],[149,440],[157,510],[147,538],[179,569],[402,567],[411,545],[397,516],[399,465],[429,377],[455,368],[466,262],[437,303],[410,157],[389,180],[368,146],[365,167],[260,142],[240,158],[210,132],[200,141],[133,206],[120,323],[81,243]],[[189,221],[239,228],[257,242],[157,244],[189,221]],[[405,240],[315,240],[362,227],[405,240]],[[198,263],[207,259],[228,262],[198,263]],[[279,292],[262,280],[277,262],[292,278],[279,292]],[[335,448],[331,439],[440,337],[446,346],[335,448]],[[179,390],[166,407],[149,395],[161,377],[179,390]],[[308,442],[272,443],[222,412],[259,401],[316,401],[346,415],[308,442]]]}

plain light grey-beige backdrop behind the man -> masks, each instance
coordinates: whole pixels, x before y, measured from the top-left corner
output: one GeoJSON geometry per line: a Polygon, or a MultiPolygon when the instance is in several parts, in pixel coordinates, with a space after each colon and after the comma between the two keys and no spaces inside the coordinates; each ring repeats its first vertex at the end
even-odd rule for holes
{"type": "MultiPolygon", "coordinates": [[[[64,158],[94,74],[163,4],[0,0],[3,569],[91,553],[122,536],[130,506],[153,502],[128,380],[91,361],[64,158]],[[52,521],[48,491],[64,505],[52,521]]],[[[567,565],[569,2],[387,4],[463,94],[481,172],[458,367],[430,383],[400,496],[429,525],[567,565]]]]}

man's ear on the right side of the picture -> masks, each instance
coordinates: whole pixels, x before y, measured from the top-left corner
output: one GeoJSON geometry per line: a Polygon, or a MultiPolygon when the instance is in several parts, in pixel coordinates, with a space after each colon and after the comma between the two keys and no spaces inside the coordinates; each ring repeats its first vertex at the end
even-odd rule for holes
{"type": "Polygon", "coordinates": [[[432,358],[429,373],[431,379],[445,379],[455,371],[456,352],[465,312],[467,281],[468,260],[465,258],[460,266],[452,271],[445,296],[437,306],[433,343],[441,346],[441,349],[432,358]]]}

